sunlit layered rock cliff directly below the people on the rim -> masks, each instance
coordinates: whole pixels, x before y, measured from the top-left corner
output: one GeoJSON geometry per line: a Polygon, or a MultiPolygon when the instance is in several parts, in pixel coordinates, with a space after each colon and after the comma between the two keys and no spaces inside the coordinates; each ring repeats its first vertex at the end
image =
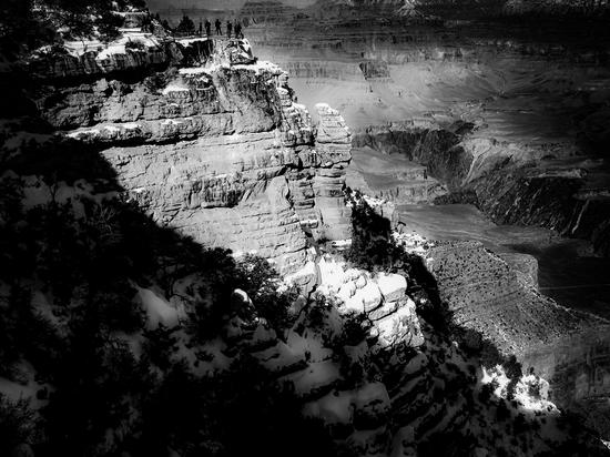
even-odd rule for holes
{"type": "Polygon", "coordinates": [[[350,135],[337,111],[318,105],[314,125],[287,74],[255,62],[245,41],[195,39],[205,62],[176,70],[176,50],[193,43],[146,39],[148,51],[30,64],[44,120],[101,149],[130,199],[203,244],[256,252],[291,272],[304,264],[305,232],[350,236],[350,135]],[[141,77],[130,81],[128,70],[141,77]]]}

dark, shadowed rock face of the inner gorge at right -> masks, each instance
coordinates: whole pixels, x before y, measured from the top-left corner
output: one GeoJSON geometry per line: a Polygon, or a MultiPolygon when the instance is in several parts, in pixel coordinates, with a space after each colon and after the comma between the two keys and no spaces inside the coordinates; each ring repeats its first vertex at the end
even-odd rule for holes
{"type": "Polygon", "coordinates": [[[353,144],[405,154],[426,165],[430,176],[451,191],[453,196],[444,201],[474,202],[498,224],[552,228],[589,240],[598,253],[610,255],[610,200],[606,187],[592,189],[604,176],[594,164],[523,161],[515,146],[462,142],[450,130],[413,123],[364,129],[354,135],[353,144]]]}

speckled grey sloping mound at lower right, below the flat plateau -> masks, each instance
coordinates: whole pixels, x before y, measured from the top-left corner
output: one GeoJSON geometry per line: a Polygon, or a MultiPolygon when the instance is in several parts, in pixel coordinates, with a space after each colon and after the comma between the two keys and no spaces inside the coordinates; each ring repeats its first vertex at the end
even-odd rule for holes
{"type": "Polygon", "coordinates": [[[523,281],[478,243],[439,245],[426,257],[456,323],[480,332],[506,355],[522,358],[536,347],[594,324],[538,293],[531,280],[523,281]]]}

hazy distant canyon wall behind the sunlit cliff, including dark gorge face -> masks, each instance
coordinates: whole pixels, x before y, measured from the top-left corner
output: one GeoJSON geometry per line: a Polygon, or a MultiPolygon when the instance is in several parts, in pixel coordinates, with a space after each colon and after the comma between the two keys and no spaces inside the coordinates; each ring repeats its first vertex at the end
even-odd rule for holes
{"type": "Polygon", "coordinates": [[[608,33],[600,21],[533,28],[519,14],[596,17],[608,4],[505,3],[334,2],[247,34],[288,70],[301,102],[342,111],[356,148],[426,166],[426,179],[368,180],[376,196],[431,202],[444,186],[443,202],[477,203],[497,223],[553,228],[607,255],[608,33]],[[446,20],[388,12],[397,10],[446,20]]]}

